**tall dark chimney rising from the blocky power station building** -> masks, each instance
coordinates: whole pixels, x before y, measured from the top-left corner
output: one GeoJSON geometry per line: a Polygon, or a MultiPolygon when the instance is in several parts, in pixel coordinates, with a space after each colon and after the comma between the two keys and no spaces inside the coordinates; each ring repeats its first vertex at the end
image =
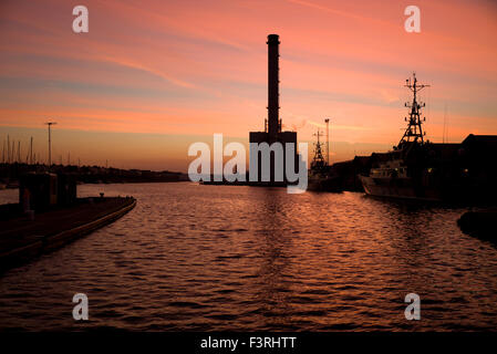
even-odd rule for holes
{"type": "Polygon", "coordinates": [[[268,133],[269,138],[275,142],[279,128],[279,35],[268,35],[268,133]]]}

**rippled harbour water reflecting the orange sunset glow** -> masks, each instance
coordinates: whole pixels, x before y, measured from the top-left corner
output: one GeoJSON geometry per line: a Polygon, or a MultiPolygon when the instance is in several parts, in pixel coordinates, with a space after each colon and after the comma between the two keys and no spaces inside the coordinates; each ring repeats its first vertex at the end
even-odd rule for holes
{"type": "MultiPolygon", "coordinates": [[[[1,330],[452,331],[497,327],[497,248],[465,211],[363,194],[179,184],[116,222],[0,274],[1,330]],[[72,317],[85,293],[90,320],[72,317]],[[421,296],[421,320],[404,298],[421,296]]],[[[15,201],[0,191],[0,202],[15,201]]]]}

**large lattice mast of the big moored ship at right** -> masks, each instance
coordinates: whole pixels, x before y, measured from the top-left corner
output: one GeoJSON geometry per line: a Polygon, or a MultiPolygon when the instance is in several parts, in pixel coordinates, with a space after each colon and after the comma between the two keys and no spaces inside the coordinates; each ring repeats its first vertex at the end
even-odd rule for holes
{"type": "MultiPolygon", "coordinates": [[[[411,77],[405,81],[405,87],[408,87],[413,92],[413,102],[406,102],[405,106],[408,107],[410,117],[405,118],[407,122],[407,128],[405,129],[404,136],[398,143],[398,148],[402,148],[406,143],[418,143],[421,145],[424,144],[424,135],[426,132],[423,132],[422,121],[421,121],[421,108],[425,107],[426,104],[423,102],[417,102],[417,93],[422,91],[424,87],[429,87],[429,85],[422,85],[417,83],[416,73],[413,73],[413,81],[411,77]]],[[[426,121],[424,117],[423,121],[426,121]]]]}

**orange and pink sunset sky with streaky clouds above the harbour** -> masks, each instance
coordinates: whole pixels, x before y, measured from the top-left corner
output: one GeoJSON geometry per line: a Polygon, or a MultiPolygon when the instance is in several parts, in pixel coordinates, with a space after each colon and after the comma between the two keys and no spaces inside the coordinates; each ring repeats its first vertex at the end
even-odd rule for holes
{"type": "Polygon", "coordinates": [[[398,143],[413,71],[432,85],[428,139],[443,140],[444,117],[448,142],[497,134],[491,0],[2,0],[0,144],[9,134],[25,157],[33,136],[46,159],[56,121],[54,160],[186,171],[190,143],[263,129],[270,33],[283,128],[311,142],[330,117],[332,160],[398,143]],[[89,33],[72,31],[77,4],[89,33]],[[404,30],[410,4],[421,33],[404,30]]]}

